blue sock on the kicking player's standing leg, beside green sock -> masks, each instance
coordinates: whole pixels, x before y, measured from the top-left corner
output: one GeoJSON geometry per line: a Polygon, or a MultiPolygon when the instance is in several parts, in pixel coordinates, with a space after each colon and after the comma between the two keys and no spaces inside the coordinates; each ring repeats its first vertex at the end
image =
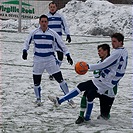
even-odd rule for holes
{"type": "Polygon", "coordinates": [[[92,108],[93,108],[93,101],[87,102],[87,108],[86,108],[86,114],[85,114],[86,121],[90,120],[92,108]]]}

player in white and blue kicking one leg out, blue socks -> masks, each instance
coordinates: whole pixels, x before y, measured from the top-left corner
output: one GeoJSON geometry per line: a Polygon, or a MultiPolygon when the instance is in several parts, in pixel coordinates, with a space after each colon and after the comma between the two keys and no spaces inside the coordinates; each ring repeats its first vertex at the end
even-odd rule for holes
{"type": "Polygon", "coordinates": [[[87,109],[84,117],[85,121],[90,120],[93,100],[97,95],[105,94],[110,91],[113,94],[113,88],[118,85],[119,81],[125,74],[128,52],[124,45],[124,36],[121,33],[114,33],[111,36],[113,51],[106,59],[98,64],[88,64],[88,69],[91,71],[100,70],[100,77],[88,80],[78,84],[78,86],[62,98],[54,98],[49,96],[49,99],[56,105],[60,105],[64,101],[77,96],[81,91],[85,91],[87,97],[87,109]]]}

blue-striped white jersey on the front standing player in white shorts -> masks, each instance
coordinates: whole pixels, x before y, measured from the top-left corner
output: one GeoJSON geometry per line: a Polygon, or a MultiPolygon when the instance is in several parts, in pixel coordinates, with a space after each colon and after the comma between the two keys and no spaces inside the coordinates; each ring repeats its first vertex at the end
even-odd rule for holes
{"type": "Polygon", "coordinates": [[[55,58],[54,45],[58,45],[64,55],[69,53],[60,36],[50,28],[47,28],[45,32],[40,27],[33,30],[24,43],[25,50],[29,50],[32,41],[34,41],[34,57],[40,60],[55,58]]]}

